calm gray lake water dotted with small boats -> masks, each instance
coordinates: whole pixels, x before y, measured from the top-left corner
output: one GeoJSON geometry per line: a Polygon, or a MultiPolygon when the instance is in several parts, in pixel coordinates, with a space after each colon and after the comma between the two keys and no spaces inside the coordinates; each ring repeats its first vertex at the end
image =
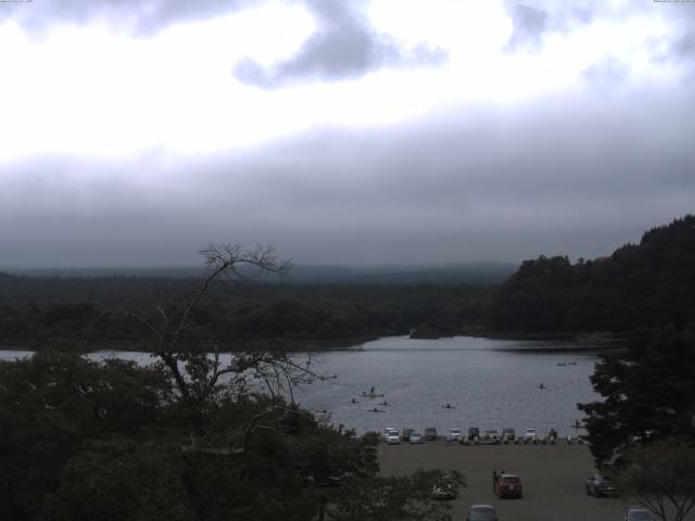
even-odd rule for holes
{"type": "MultiPolygon", "coordinates": [[[[426,425],[444,433],[475,425],[500,431],[511,427],[517,432],[533,427],[540,433],[553,427],[560,435],[574,435],[570,425],[581,417],[577,403],[597,398],[589,381],[595,355],[523,351],[557,346],[469,336],[380,339],[361,350],[315,356],[316,369],[337,378],[315,382],[295,397],[311,410],[326,409],[334,424],[361,433],[386,427],[422,430],[426,425]],[[568,361],[576,365],[558,366],[568,361]],[[546,389],[539,389],[541,382],[546,389]],[[386,396],[362,397],[371,386],[386,396]],[[379,405],[384,399],[389,405],[379,405]],[[444,408],[447,403],[455,408],[444,408]],[[368,410],[375,407],[383,412],[368,410]]],[[[25,355],[3,351],[0,359],[25,355]]],[[[92,357],[114,355],[143,364],[151,360],[144,353],[100,352],[92,357]]]]}

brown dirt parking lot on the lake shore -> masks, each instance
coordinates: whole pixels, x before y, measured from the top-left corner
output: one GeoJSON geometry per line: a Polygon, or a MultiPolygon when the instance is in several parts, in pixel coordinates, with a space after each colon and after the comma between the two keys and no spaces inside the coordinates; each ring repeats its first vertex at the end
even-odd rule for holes
{"type": "Polygon", "coordinates": [[[468,487],[450,501],[452,517],[466,519],[475,503],[494,505],[500,521],[619,521],[626,504],[620,498],[596,498],[584,490],[595,472],[585,445],[447,445],[444,441],[422,445],[379,445],[383,475],[417,469],[455,469],[468,487]],[[492,493],[492,471],[521,476],[523,498],[497,499],[492,493]]]}

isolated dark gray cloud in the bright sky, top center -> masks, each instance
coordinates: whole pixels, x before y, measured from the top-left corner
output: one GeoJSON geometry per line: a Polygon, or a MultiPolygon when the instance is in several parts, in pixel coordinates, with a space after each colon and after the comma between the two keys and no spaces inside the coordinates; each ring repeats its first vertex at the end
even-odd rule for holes
{"type": "Polygon", "coordinates": [[[441,49],[420,43],[403,49],[393,37],[378,33],[357,10],[358,4],[338,0],[308,0],[318,30],[289,60],[263,67],[252,59],[237,63],[240,81],[271,89],[302,79],[339,80],[361,77],[371,71],[440,65],[441,49]]]}

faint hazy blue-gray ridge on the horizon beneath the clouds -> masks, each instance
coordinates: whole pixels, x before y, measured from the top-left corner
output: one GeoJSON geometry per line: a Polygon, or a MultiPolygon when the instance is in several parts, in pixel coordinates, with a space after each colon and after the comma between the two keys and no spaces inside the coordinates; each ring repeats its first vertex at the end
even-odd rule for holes
{"type": "MultiPolygon", "coordinates": [[[[509,277],[516,265],[511,263],[470,263],[448,266],[344,267],[329,265],[295,265],[290,282],[366,283],[366,284],[498,284],[509,277]]],[[[200,267],[123,267],[123,268],[41,268],[10,270],[12,275],[31,278],[174,278],[199,277],[200,267]]]]}

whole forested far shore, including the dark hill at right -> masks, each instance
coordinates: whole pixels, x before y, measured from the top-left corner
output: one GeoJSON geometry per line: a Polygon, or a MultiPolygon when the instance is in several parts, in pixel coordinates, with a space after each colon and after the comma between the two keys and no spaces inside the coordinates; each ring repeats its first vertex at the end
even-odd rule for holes
{"type": "MultiPolygon", "coordinates": [[[[383,274],[382,274],[383,276],[383,274]]],[[[377,277],[377,276],[374,276],[377,277]]],[[[624,333],[671,323],[695,312],[695,216],[647,231],[608,257],[526,260],[501,285],[480,283],[250,281],[216,283],[197,308],[211,340],[235,346],[255,340],[340,345],[407,334],[624,333]]],[[[452,279],[453,280],[453,279],[452,279]]],[[[37,347],[83,340],[134,344],[146,335],[128,318],[178,305],[199,278],[27,277],[0,274],[0,344],[37,347]],[[166,303],[166,304],[163,304],[166,303]]]]}

